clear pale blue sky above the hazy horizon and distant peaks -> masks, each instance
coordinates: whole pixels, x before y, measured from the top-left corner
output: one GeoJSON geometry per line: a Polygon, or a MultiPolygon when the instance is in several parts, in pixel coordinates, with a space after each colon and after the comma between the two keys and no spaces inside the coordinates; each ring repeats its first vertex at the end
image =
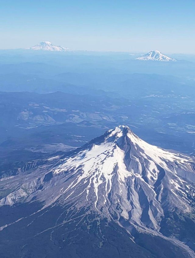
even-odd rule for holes
{"type": "Polygon", "coordinates": [[[1,0],[0,48],[195,54],[195,0],[1,0]]]}

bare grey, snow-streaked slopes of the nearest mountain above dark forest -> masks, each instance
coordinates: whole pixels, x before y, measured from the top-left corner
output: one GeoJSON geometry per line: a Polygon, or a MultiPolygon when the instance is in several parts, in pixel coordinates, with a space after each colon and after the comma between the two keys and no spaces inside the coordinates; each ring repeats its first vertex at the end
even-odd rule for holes
{"type": "MultiPolygon", "coordinates": [[[[94,223],[97,224],[96,230],[101,223],[105,227],[115,223],[118,230],[125,230],[129,235],[130,242],[142,248],[137,240],[140,234],[146,239],[149,236],[161,239],[174,250],[179,250],[180,256],[171,253],[172,250],[166,257],[195,257],[192,250],[195,243],[190,234],[184,239],[174,231],[175,228],[168,231],[171,228],[168,223],[172,220],[170,214],[192,220],[190,216],[195,211],[195,159],[150,145],[127,126],[108,130],[65,156],[45,159],[23,169],[23,172],[19,169],[16,174],[1,179],[0,205],[27,204],[35,200],[42,203],[42,207],[30,215],[32,221],[28,219],[29,225],[34,224],[35,214],[40,217],[41,212],[45,214],[45,210],[60,207],[55,226],[47,225],[53,228],[52,241],[55,241],[54,231],[59,225],[66,225],[68,229],[70,225],[77,228],[86,224],[86,231],[90,233],[94,223]]],[[[23,217],[17,221],[25,221],[23,217]]],[[[17,224],[17,221],[3,224],[0,230],[17,224]]],[[[97,233],[100,246],[108,240],[103,230],[105,228],[100,228],[97,233]]],[[[71,239],[76,241],[76,236],[71,234],[71,239]]],[[[161,250],[163,248],[165,246],[161,250]]]]}

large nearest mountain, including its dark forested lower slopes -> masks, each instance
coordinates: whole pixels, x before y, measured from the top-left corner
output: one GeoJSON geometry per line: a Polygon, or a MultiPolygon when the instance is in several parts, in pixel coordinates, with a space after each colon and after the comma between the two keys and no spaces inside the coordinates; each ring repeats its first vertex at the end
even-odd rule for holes
{"type": "Polygon", "coordinates": [[[127,126],[14,174],[0,181],[0,249],[15,257],[195,257],[195,159],[127,126]]]}

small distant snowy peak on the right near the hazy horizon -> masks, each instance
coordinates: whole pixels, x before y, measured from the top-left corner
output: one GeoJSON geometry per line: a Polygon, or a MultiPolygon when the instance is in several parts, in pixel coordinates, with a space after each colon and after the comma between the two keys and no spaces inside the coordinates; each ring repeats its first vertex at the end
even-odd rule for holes
{"type": "Polygon", "coordinates": [[[142,61],[163,61],[163,62],[168,62],[168,61],[177,61],[174,58],[168,57],[163,55],[160,51],[155,50],[155,51],[150,51],[147,54],[140,56],[136,58],[137,60],[142,60],[142,61]]]}

